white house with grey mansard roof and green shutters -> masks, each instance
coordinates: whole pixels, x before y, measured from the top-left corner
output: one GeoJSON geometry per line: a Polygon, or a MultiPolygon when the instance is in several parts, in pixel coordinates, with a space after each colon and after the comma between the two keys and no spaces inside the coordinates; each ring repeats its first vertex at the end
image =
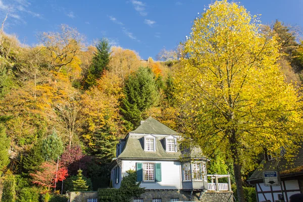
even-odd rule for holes
{"type": "Polygon", "coordinates": [[[208,183],[207,159],[201,156],[200,149],[182,149],[179,138],[177,132],[152,117],[141,121],[137,129],[117,144],[116,158],[110,165],[113,187],[120,187],[127,170],[136,170],[141,187],[156,191],[153,200],[145,200],[147,196],[142,196],[134,198],[136,202],[159,202],[163,197],[166,197],[163,201],[188,200],[192,194],[198,193],[200,197],[209,189],[230,191],[230,183],[218,183],[218,178],[229,179],[228,175],[212,175],[216,183],[208,183]],[[166,192],[161,194],[159,190],[166,192]]]}

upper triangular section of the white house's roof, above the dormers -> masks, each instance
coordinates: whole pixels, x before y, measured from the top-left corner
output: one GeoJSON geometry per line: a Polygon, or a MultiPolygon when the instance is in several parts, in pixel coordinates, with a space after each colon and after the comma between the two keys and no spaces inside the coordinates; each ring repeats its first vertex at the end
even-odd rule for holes
{"type": "Polygon", "coordinates": [[[137,129],[129,133],[178,135],[178,133],[153,117],[149,117],[137,129]]]}

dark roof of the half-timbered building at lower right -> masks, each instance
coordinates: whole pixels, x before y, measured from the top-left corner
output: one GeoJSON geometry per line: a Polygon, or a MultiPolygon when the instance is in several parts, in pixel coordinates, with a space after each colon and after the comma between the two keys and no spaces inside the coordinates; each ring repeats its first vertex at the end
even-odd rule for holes
{"type": "Polygon", "coordinates": [[[255,170],[254,173],[249,177],[248,181],[258,181],[263,179],[263,171],[266,170],[277,170],[277,166],[279,167],[280,176],[286,177],[288,175],[303,175],[303,148],[298,149],[298,154],[296,158],[292,161],[292,165],[285,159],[278,160],[271,160],[268,162],[262,162],[261,166],[255,170]],[[263,168],[262,168],[263,166],[263,168]],[[260,169],[262,168],[262,169],[260,169]]]}

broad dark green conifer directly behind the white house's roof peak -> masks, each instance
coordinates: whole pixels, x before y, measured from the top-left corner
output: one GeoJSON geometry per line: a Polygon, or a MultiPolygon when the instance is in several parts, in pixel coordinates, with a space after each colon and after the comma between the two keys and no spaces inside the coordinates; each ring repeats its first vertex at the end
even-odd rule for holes
{"type": "Polygon", "coordinates": [[[134,127],[140,123],[141,114],[159,100],[155,75],[148,67],[140,67],[125,80],[125,98],[122,99],[121,112],[125,120],[134,127]]]}

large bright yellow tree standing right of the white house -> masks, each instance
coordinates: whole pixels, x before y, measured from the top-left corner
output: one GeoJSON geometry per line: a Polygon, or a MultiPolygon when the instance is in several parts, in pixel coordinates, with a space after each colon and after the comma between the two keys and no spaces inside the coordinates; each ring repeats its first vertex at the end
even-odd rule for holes
{"type": "Polygon", "coordinates": [[[277,65],[275,36],[260,31],[257,16],[226,0],[210,5],[183,44],[176,97],[184,139],[210,156],[233,160],[238,199],[244,201],[241,171],[257,166],[265,150],[291,154],[301,135],[300,96],[277,65]]]}

